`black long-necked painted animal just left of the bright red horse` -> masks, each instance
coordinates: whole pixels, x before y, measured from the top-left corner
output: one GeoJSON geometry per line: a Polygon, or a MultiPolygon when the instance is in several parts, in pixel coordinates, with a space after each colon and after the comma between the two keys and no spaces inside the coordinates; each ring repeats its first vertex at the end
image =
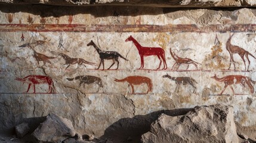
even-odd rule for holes
{"type": "MultiPolygon", "coordinates": [[[[103,65],[103,70],[104,70],[104,60],[113,60],[113,63],[112,65],[109,67],[109,69],[117,62],[118,63],[118,66],[119,66],[119,60],[118,58],[121,57],[123,58],[124,60],[126,61],[129,61],[127,60],[125,57],[123,57],[121,54],[119,54],[118,52],[115,52],[115,51],[102,51],[100,48],[98,48],[98,46],[93,42],[89,42],[87,44],[87,46],[93,46],[96,51],[98,52],[98,55],[100,55],[100,64],[98,65],[98,69],[100,69],[100,66],[101,66],[101,63],[103,65]]],[[[118,69],[118,66],[116,67],[116,70],[118,69]]],[[[108,69],[108,70],[109,70],[108,69]]]]}

